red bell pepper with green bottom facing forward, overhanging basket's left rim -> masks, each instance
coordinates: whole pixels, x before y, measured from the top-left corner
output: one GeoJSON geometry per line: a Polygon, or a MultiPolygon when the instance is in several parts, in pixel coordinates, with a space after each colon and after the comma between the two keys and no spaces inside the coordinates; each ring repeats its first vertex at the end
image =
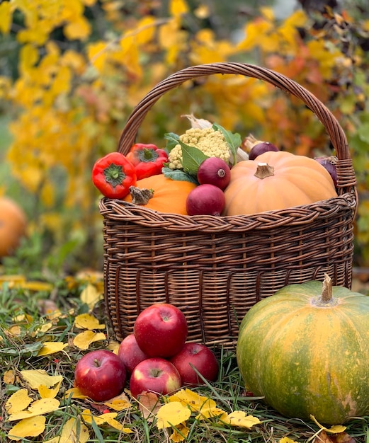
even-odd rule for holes
{"type": "Polygon", "coordinates": [[[135,166],[120,152],[98,159],[92,168],[93,184],[109,198],[124,198],[136,180],[135,166]]]}

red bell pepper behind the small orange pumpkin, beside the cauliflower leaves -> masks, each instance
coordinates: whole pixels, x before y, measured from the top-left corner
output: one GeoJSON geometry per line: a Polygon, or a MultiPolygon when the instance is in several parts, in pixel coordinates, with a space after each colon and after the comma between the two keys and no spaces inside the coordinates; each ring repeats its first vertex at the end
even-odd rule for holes
{"type": "Polygon", "coordinates": [[[128,152],[127,159],[135,166],[137,180],[141,180],[161,174],[163,163],[168,161],[168,154],[154,144],[136,143],[128,152]]]}

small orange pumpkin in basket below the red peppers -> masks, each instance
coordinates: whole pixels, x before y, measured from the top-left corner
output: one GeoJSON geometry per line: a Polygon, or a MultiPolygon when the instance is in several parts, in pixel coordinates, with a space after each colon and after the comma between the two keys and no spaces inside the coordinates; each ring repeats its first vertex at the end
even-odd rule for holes
{"type": "MultiPolygon", "coordinates": [[[[154,209],[157,212],[168,212],[172,214],[187,215],[186,199],[188,194],[195,188],[195,183],[188,181],[171,180],[166,178],[163,174],[151,176],[137,180],[134,190],[130,192],[123,200],[132,202],[132,194],[139,193],[139,199],[142,197],[142,192],[138,190],[152,190],[152,197],[148,196],[142,201],[133,201],[136,204],[143,205],[149,209],[154,209]]],[[[148,192],[146,193],[148,194],[148,192]]]]}

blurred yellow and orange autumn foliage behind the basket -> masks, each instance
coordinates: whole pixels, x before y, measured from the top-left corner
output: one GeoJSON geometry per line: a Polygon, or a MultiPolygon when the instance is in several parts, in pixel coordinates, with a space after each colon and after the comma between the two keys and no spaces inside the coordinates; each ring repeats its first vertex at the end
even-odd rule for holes
{"type": "MultiPolygon", "coordinates": [[[[0,194],[25,208],[23,266],[74,272],[101,267],[99,156],[116,149],[132,108],[178,69],[247,62],[312,91],[348,137],[360,204],[355,262],[369,266],[369,20],[351,11],[277,20],[271,8],[234,18],[220,32],[200,1],[11,0],[0,4],[0,194]]],[[[251,132],[297,154],[331,154],[324,127],[305,105],[268,84],[210,76],[167,93],[138,141],[164,146],[194,113],[242,137],[251,132]]]]}

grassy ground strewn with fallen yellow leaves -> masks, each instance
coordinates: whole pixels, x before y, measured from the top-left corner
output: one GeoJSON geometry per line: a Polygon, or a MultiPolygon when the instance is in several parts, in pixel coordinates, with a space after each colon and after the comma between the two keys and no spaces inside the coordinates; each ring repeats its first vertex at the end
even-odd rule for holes
{"type": "Polygon", "coordinates": [[[93,403],[73,386],[75,364],[86,352],[119,345],[101,298],[102,276],[84,272],[40,283],[3,275],[0,283],[1,441],[368,441],[368,417],[329,429],[282,417],[244,391],[234,353],[222,349],[213,384],[159,401],[148,394],[140,403],[126,389],[93,403]]]}

